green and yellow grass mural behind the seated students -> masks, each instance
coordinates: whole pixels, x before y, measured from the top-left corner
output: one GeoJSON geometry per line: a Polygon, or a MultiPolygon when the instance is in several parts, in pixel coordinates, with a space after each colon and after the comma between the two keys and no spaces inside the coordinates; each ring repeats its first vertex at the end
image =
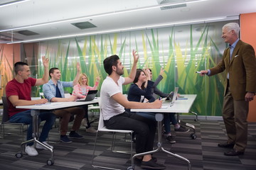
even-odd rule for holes
{"type": "MultiPolygon", "coordinates": [[[[223,103],[223,74],[200,77],[196,71],[215,66],[226,45],[221,36],[222,26],[228,22],[201,23],[188,26],[155,28],[106,35],[91,35],[63,40],[39,42],[38,77],[43,74],[41,56],[50,59],[50,67],[58,67],[62,81],[73,81],[76,62],[87,74],[93,86],[97,76],[107,77],[103,60],[117,54],[124,64],[124,77],[132,67],[132,50],[140,55],[138,68],[151,68],[153,80],[165,69],[158,88],[169,93],[175,86],[179,94],[197,94],[192,111],[199,115],[221,115],[223,103]]],[[[100,90],[99,86],[99,90],[100,90]]],[[[123,86],[124,94],[129,86],[123,86]]],[[[72,92],[73,89],[65,89],[72,92]]],[[[40,89],[38,90],[38,92],[40,89]]]]}

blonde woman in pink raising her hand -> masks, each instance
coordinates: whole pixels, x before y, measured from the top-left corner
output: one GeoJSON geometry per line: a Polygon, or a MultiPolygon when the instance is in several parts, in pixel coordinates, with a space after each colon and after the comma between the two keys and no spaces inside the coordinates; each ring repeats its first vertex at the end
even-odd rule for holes
{"type": "MultiPolygon", "coordinates": [[[[87,75],[82,73],[78,80],[78,84],[73,87],[73,96],[77,98],[85,98],[87,96],[88,91],[96,90],[99,85],[100,77],[96,77],[95,86],[88,86],[87,75]]],[[[85,126],[86,132],[96,132],[96,130],[90,125],[88,119],[88,106],[82,106],[85,109],[85,118],[83,118],[81,125],[85,126]]]]}

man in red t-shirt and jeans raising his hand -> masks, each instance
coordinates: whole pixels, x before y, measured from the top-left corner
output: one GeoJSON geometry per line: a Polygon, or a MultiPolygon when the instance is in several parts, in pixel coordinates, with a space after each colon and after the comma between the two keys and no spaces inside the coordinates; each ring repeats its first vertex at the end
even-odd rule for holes
{"type": "MultiPolygon", "coordinates": [[[[28,64],[26,64],[25,62],[16,62],[14,64],[15,77],[6,85],[6,98],[9,103],[9,122],[29,124],[27,131],[27,140],[33,139],[33,118],[31,116],[31,110],[16,108],[16,106],[43,104],[48,102],[46,98],[31,101],[31,87],[40,86],[48,82],[49,61],[46,57],[42,57],[42,60],[44,67],[44,74],[42,79],[33,79],[29,77],[31,71],[28,67],[28,64]]],[[[43,144],[47,145],[48,147],[53,148],[53,146],[48,145],[48,143],[46,142],[46,138],[48,137],[48,133],[53,127],[53,124],[55,123],[55,114],[42,111],[40,115],[38,115],[38,120],[39,123],[43,120],[46,120],[46,123],[43,125],[43,129],[38,140],[40,142],[43,142],[43,144]]],[[[36,148],[44,149],[44,147],[38,144],[36,145],[36,148]]],[[[29,156],[38,155],[38,152],[33,147],[33,142],[28,143],[25,152],[29,156]]]]}

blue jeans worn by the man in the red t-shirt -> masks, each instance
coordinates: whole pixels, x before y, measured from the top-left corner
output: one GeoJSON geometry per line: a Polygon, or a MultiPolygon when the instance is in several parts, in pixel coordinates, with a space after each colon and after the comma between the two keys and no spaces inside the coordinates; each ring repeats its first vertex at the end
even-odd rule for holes
{"type": "MultiPolygon", "coordinates": [[[[43,125],[43,129],[41,135],[39,137],[40,142],[45,142],[46,138],[48,137],[48,133],[53,127],[55,123],[55,114],[51,112],[41,111],[40,115],[38,115],[38,125],[40,125],[41,121],[46,120],[46,123],[43,125]]],[[[26,140],[32,140],[32,133],[33,133],[33,117],[31,116],[31,110],[23,111],[16,113],[15,115],[11,116],[9,122],[11,123],[26,123],[28,124],[27,130],[27,138],[26,140]]],[[[29,143],[28,145],[33,145],[33,142],[29,143]]]]}

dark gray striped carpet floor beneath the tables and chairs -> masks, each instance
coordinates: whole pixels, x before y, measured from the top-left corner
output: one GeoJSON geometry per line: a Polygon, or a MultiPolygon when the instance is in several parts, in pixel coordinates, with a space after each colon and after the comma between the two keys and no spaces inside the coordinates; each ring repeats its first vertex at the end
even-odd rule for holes
{"type": "MultiPolygon", "coordinates": [[[[176,133],[176,144],[171,145],[162,137],[162,147],[166,151],[185,157],[191,162],[193,170],[255,170],[256,167],[256,123],[249,123],[248,142],[245,154],[239,157],[226,157],[223,152],[228,149],[217,147],[219,142],[225,142],[227,135],[225,125],[220,120],[184,120],[196,127],[196,140],[191,138],[193,130],[187,133],[176,133]]],[[[70,128],[72,123],[70,123],[70,128]]],[[[94,124],[97,128],[97,123],[94,124]]],[[[171,129],[174,130],[171,125],[171,129]]],[[[95,169],[91,166],[92,152],[95,144],[95,134],[85,132],[85,128],[80,128],[79,134],[83,135],[82,140],[73,140],[70,144],[59,142],[60,134],[58,128],[50,131],[48,140],[54,146],[54,164],[48,166],[46,161],[50,159],[50,152],[38,149],[39,155],[29,157],[24,154],[21,158],[16,158],[15,154],[20,151],[22,136],[19,135],[18,127],[6,126],[4,139],[0,138],[0,169],[95,169]]],[[[1,134],[2,136],[2,134],[1,134]]],[[[25,132],[26,136],[26,132],[25,132]]],[[[130,150],[130,136],[117,134],[115,149],[130,150]]],[[[156,135],[157,140],[157,135],[156,135]]],[[[156,140],[155,147],[156,149],[156,140]]],[[[112,133],[100,132],[95,149],[94,162],[98,166],[110,166],[117,169],[127,169],[131,166],[130,154],[115,153],[111,151],[112,133]]],[[[135,147],[135,144],[133,144],[135,147]]],[[[133,149],[134,150],[134,149],[133,149]]],[[[164,164],[166,169],[183,170],[188,169],[188,164],[166,154],[157,152],[154,157],[158,158],[160,164],[164,164]]],[[[141,169],[139,164],[135,169],[141,169]]]]}

